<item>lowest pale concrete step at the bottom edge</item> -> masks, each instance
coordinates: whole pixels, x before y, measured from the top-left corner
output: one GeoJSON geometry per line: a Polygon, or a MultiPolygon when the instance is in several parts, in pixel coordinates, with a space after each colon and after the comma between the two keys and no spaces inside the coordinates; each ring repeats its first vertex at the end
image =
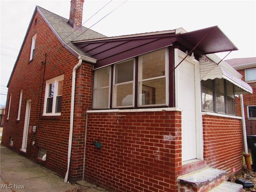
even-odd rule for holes
{"type": "Polygon", "coordinates": [[[209,192],[241,192],[242,189],[243,186],[240,184],[225,181],[219,184],[218,186],[214,187],[209,192]]]}

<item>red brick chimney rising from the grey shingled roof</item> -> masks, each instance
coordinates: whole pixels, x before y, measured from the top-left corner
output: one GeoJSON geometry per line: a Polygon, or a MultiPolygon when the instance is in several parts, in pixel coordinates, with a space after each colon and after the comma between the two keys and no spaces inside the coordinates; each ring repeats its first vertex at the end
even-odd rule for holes
{"type": "Polygon", "coordinates": [[[84,0],[71,0],[70,2],[70,16],[68,23],[74,29],[80,31],[82,31],[83,4],[84,0]]]}

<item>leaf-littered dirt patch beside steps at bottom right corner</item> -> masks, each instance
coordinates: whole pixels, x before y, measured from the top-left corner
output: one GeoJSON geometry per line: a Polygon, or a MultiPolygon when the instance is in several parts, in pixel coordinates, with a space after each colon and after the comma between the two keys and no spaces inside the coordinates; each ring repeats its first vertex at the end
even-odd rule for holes
{"type": "Polygon", "coordinates": [[[243,166],[242,170],[232,174],[229,177],[230,181],[235,183],[236,179],[245,179],[254,184],[253,188],[244,188],[242,192],[256,192],[256,172],[250,172],[246,166],[243,166]]]}

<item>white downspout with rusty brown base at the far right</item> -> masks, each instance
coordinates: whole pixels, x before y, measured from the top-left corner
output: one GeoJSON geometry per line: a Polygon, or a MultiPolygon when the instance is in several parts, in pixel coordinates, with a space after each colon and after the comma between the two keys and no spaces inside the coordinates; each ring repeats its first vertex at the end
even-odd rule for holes
{"type": "Polygon", "coordinates": [[[245,154],[244,159],[246,166],[248,170],[251,172],[252,171],[252,166],[250,162],[250,154],[248,154],[248,146],[247,146],[247,138],[246,138],[246,127],[245,127],[245,118],[244,118],[244,100],[243,100],[243,94],[240,94],[240,103],[241,103],[241,113],[242,113],[242,127],[243,127],[243,134],[244,134],[244,150],[245,154]]]}

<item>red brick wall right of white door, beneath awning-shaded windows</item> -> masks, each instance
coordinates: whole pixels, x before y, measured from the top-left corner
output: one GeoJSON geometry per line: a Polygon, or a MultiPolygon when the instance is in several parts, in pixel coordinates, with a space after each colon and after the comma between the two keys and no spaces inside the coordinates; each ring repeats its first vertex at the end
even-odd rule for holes
{"type": "Polygon", "coordinates": [[[241,120],[203,116],[204,160],[208,166],[226,170],[242,168],[241,120]]]}

